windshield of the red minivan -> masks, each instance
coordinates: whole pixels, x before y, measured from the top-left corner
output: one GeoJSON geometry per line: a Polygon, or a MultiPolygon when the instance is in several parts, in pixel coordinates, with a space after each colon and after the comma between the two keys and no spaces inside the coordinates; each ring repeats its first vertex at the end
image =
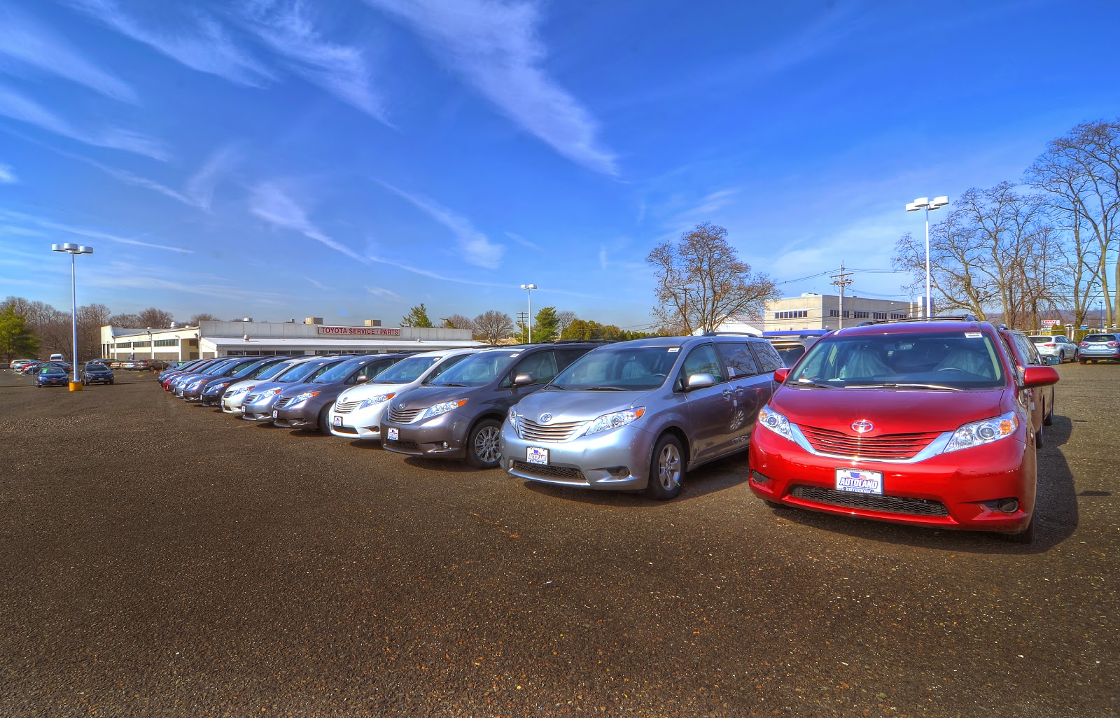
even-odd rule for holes
{"type": "Polygon", "coordinates": [[[983,332],[829,336],[809,349],[786,385],[996,389],[1004,365],[983,332]]]}

